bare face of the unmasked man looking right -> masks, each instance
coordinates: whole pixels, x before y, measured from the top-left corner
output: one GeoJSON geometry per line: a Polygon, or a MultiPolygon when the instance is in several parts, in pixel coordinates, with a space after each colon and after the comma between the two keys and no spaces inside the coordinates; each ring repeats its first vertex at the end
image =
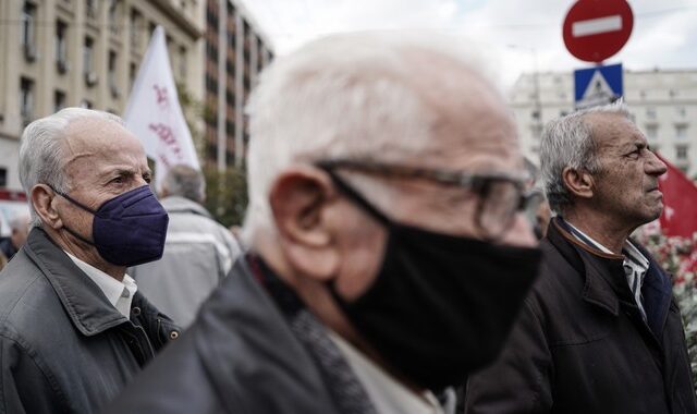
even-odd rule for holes
{"type": "Polygon", "coordinates": [[[663,209],[658,178],[665,165],[648,149],[644,134],[617,114],[588,115],[600,172],[595,176],[595,205],[632,230],[656,220],[663,209]]]}

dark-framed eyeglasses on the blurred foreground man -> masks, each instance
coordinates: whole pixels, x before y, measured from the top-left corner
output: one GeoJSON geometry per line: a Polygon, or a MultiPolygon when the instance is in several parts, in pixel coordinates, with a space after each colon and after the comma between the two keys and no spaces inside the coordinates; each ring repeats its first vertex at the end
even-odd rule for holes
{"type": "Polygon", "coordinates": [[[321,160],[315,165],[329,171],[346,169],[467,188],[478,196],[475,223],[487,241],[499,240],[511,228],[515,214],[525,210],[539,195],[537,191],[526,191],[529,178],[525,172],[518,175],[504,172],[468,173],[353,159],[321,160]]]}

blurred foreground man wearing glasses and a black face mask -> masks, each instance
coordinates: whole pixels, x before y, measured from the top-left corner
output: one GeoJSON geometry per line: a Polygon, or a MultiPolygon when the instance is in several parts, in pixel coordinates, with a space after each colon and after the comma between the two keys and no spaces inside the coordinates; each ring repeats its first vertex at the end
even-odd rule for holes
{"type": "Polygon", "coordinates": [[[451,411],[432,391],[494,357],[540,254],[511,112],[436,40],[339,35],[262,75],[250,252],[112,413],[451,411]]]}

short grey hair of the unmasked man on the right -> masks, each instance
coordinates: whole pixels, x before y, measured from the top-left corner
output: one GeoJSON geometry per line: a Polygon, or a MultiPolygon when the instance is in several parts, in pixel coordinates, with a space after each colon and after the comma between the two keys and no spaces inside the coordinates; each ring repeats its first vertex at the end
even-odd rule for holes
{"type": "Polygon", "coordinates": [[[622,101],[572,112],[550,121],[542,132],[540,143],[540,168],[542,185],[550,208],[557,214],[573,205],[572,194],[564,185],[562,172],[568,167],[591,174],[600,172],[592,125],[587,115],[609,113],[632,119],[622,101]]]}

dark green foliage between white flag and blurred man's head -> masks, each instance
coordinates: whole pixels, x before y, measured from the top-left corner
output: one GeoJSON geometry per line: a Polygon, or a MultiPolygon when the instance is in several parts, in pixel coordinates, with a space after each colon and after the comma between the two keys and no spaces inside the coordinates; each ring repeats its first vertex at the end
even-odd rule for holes
{"type": "Polygon", "coordinates": [[[213,218],[225,227],[240,226],[247,208],[247,180],[244,168],[228,167],[218,171],[215,166],[204,168],[206,176],[205,206],[213,218]]]}

